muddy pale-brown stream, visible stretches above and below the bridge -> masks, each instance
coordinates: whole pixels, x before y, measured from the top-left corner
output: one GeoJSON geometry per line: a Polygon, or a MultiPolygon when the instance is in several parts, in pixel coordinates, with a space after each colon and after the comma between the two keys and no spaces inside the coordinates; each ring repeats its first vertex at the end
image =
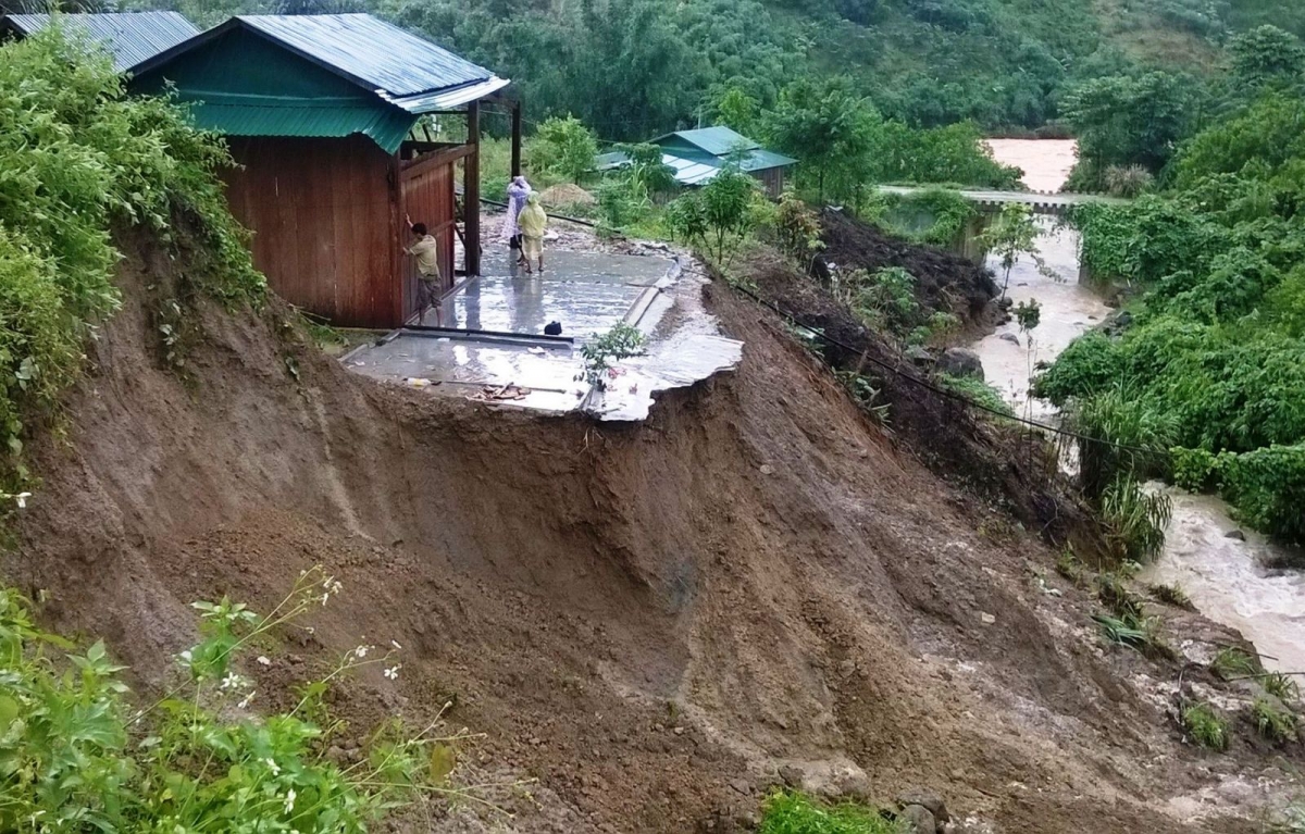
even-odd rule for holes
{"type": "MultiPolygon", "coordinates": [[[[1060,191],[1074,164],[1073,142],[993,140],[989,145],[998,161],[1022,167],[1026,184],[1035,191],[1060,191]]],[[[1041,324],[1032,339],[1011,321],[971,347],[983,359],[988,381],[1015,411],[1045,422],[1054,419],[1056,410],[1028,398],[1034,363],[1053,360],[1111,308],[1078,283],[1075,231],[1057,231],[1044,221],[1039,247],[1056,277],[1043,274],[1026,258],[1011,271],[1007,290],[1015,303],[1036,299],[1041,305],[1041,324]]],[[[990,261],[989,266],[1001,282],[1001,264],[990,261]]],[[[1182,586],[1202,613],[1238,629],[1270,655],[1267,668],[1305,671],[1305,574],[1268,568],[1287,553],[1263,536],[1245,531],[1245,540],[1228,538],[1238,526],[1219,499],[1180,489],[1169,493],[1173,519],[1164,552],[1143,578],[1182,586]]]]}

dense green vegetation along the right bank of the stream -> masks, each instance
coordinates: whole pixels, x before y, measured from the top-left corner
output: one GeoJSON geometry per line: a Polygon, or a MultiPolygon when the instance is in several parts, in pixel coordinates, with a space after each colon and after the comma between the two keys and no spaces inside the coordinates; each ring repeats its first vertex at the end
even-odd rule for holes
{"type": "MultiPolygon", "coordinates": [[[[1161,191],[1077,213],[1084,265],[1141,301],[1121,337],[1077,341],[1035,393],[1094,415],[1084,433],[1146,449],[1084,457],[1094,488],[1120,471],[1167,476],[1219,491],[1249,526],[1300,543],[1305,48],[1280,30],[1255,30],[1229,54],[1232,70],[1211,81],[1205,104],[1218,116],[1203,131],[1167,161],[1117,151],[1163,164],[1161,191]]],[[[1160,147],[1154,136],[1137,141],[1160,147]]]]}

